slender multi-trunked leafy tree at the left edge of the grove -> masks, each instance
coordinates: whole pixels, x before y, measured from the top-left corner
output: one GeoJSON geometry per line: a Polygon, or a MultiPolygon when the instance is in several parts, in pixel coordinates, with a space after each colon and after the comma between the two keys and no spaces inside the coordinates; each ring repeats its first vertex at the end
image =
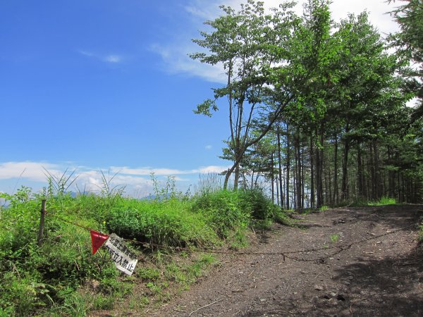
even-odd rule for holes
{"type": "Polygon", "coordinates": [[[212,116],[212,111],[218,110],[217,99],[228,99],[231,131],[228,144],[233,154],[233,166],[226,172],[225,189],[233,172],[235,189],[238,187],[239,164],[245,151],[269,132],[284,106],[292,99],[287,95],[276,109],[269,108],[264,100],[264,92],[266,85],[269,85],[269,70],[286,58],[281,49],[292,37],[296,17],[289,9],[293,5],[292,2],[281,4],[271,14],[264,13],[262,2],[248,1],[241,5],[238,12],[231,7],[221,6],[225,15],[205,23],[214,31],[201,32],[202,39],[193,40],[207,49],[209,54],[196,53],[191,55],[192,58],[212,65],[221,63],[226,71],[226,85],[214,89],[214,99],[207,99],[195,111],[212,116]],[[269,119],[262,132],[252,137],[252,120],[258,111],[267,112],[269,119]]]}

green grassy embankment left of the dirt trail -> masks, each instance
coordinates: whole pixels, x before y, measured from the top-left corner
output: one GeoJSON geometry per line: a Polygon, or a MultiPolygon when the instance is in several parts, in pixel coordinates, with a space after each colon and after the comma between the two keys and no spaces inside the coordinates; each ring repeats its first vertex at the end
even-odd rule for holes
{"type": "Polygon", "coordinates": [[[0,209],[0,316],[85,316],[123,302],[140,310],[216,265],[205,249],[245,247],[251,228],[287,220],[259,190],[187,197],[166,189],[139,200],[106,189],[77,197],[52,187],[0,194],[9,202],[0,209]],[[38,247],[41,199],[47,215],[38,247]],[[116,270],[104,249],[92,256],[87,228],[137,241],[128,243],[140,259],[131,277],[116,270]]]}

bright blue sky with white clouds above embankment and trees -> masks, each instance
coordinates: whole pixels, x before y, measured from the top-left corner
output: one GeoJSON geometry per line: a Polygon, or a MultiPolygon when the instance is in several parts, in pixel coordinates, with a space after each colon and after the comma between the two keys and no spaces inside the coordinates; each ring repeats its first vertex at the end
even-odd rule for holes
{"type": "MultiPolygon", "coordinates": [[[[100,170],[118,173],[137,197],[152,192],[151,172],[185,190],[226,169],[224,103],[213,118],[192,112],[223,70],[187,54],[220,4],[240,2],[0,1],[0,192],[46,186],[43,168],[75,170],[90,189],[100,170]]],[[[393,5],[379,0],[334,0],[333,18],[366,8],[381,32],[396,30],[384,15],[393,5]]]]}

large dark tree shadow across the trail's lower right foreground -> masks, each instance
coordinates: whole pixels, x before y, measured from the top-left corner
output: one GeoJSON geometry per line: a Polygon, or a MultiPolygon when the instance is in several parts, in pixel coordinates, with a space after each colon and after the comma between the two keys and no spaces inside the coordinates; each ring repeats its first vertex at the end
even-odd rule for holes
{"type": "Polygon", "coordinates": [[[358,261],[334,270],[333,285],[261,305],[252,316],[423,316],[423,251],[358,261]]]}

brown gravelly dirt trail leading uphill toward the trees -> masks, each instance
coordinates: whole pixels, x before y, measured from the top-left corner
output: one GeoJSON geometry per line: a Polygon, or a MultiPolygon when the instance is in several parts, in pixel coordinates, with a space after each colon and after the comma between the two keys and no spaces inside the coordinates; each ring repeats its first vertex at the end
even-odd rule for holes
{"type": "MultiPolygon", "coordinates": [[[[331,209],[278,226],[155,316],[423,316],[423,206],[331,209]]],[[[152,313],[152,311],[150,311],[152,313]]]]}

